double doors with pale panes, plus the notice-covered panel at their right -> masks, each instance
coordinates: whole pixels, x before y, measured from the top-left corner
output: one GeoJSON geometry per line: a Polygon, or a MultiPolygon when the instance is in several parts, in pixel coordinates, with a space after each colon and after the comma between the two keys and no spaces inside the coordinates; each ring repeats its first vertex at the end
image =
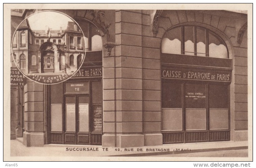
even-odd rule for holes
{"type": "Polygon", "coordinates": [[[90,103],[88,95],[66,95],[64,112],[65,144],[101,144],[101,104],[90,103]]]}

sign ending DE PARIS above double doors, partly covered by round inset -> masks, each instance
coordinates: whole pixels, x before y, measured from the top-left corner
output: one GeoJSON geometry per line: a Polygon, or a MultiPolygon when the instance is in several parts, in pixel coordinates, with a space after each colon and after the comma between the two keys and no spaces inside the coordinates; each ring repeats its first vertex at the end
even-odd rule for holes
{"type": "Polygon", "coordinates": [[[74,75],[73,78],[84,77],[101,77],[102,67],[82,67],[74,75]]]}

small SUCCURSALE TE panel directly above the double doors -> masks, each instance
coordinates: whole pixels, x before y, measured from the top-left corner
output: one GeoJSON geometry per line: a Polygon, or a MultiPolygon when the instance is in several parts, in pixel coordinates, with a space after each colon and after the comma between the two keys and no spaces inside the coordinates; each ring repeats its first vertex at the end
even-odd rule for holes
{"type": "Polygon", "coordinates": [[[65,84],[66,93],[87,93],[89,92],[88,82],[67,82],[65,84]]]}

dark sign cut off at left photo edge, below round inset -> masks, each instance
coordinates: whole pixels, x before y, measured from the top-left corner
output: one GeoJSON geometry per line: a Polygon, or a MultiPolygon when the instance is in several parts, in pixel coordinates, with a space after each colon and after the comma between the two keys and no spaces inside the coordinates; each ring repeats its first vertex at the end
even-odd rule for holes
{"type": "Polygon", "coordinates": [[[11,70],[11,86],[24,86],[27,78],[19,70],[11,70]]]}

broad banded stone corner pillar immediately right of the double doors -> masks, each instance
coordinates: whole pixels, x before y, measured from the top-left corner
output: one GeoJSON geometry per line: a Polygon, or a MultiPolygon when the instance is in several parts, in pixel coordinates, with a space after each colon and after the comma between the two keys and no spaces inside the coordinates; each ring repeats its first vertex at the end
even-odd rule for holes
{"type": "Polygon", "coordinates": [[[103,146],[144,146],[141,17],[116,10],[115,56],[103,58],[103,146]]]}

